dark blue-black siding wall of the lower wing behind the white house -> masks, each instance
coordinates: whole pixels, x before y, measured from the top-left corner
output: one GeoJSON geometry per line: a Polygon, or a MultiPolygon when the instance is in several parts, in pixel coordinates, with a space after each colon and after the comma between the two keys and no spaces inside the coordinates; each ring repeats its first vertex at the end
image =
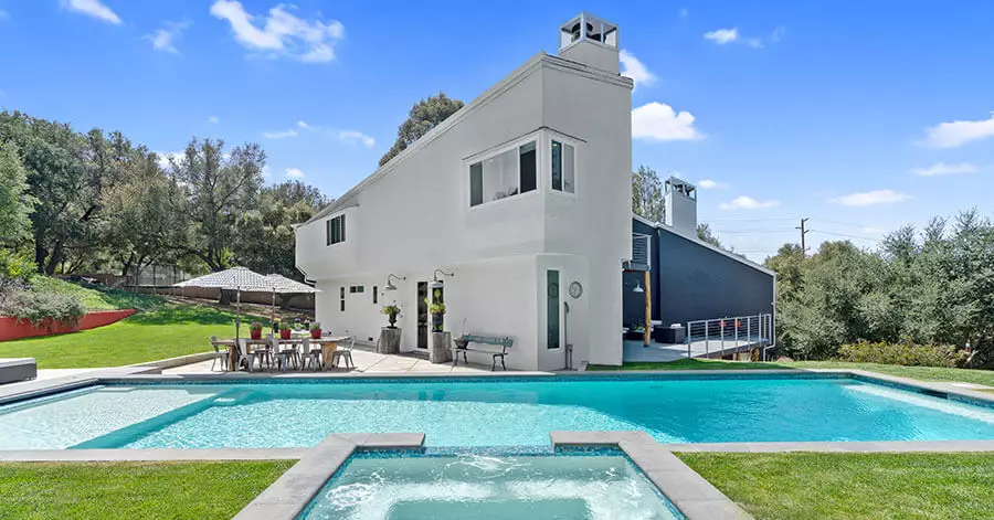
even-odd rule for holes
{"type": "MultiPolygon", "coordinates": [[[[635,221],[653,236],[653,319],[664,325],[773,311],[773,276],[668,231],[635,221]]],[[[643,273],[625,273],[624,323],[645,321],[643,273]]]]}

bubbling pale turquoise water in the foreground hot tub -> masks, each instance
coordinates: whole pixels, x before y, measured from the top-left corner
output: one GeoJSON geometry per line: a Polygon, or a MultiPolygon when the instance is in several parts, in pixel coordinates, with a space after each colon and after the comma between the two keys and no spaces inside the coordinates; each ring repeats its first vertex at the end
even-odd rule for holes
{"type": "Polygon", "coordinates": [[[622,455],[353,457],[307,520],[674,520],[622,455]]]}

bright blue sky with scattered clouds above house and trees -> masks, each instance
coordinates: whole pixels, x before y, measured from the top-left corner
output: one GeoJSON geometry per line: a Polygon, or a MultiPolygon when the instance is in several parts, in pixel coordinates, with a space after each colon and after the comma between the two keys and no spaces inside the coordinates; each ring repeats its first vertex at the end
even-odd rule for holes
{"type": "Polygon", "coordinates": [[[633,165],[699,187],[699,221],[762,261],[994,216],[994,2],[0,0],[0,107],[161,153],[262,144],[267,182],[336,197],[411,105],[470,102],[580,11],[620,28],[633,165]]]}

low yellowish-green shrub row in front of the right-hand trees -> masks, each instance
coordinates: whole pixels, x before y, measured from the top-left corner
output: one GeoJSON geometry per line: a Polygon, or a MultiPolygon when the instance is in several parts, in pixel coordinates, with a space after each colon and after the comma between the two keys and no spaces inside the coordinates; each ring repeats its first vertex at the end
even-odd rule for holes
{"type": "Polygon", "coordinates": [[[966,362],[966,352],[947,346],[859,341],[842,346],[838,358],[854,363],[958,368],[966,362]]]}

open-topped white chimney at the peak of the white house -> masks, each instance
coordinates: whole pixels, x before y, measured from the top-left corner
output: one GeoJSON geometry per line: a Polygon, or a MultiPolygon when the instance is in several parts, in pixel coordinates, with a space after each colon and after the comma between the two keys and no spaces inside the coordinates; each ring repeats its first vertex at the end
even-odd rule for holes
{"type": "Polygon", "coordinates": [[[617,25],[581,12],[559,26],[559,56],[618,74],[617,25]]]}

